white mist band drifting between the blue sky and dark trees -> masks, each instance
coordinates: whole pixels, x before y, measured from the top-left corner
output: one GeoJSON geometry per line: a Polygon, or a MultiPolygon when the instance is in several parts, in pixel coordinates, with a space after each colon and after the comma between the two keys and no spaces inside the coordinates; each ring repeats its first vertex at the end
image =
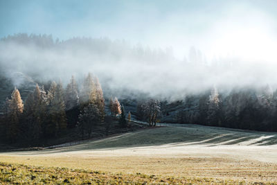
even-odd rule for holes
{"type": "Polygon", "coordinates": [[[72,75],[81,79],[91,72],[98,76],[104,91],[140,92],[159,98],[181,98],[211,87],[222,91],[266,85],[276,88],[274,62],[235,57],[206,60],[195,48],[179,60],[172,50],[108,38],[76,37],[60,42],[51,35],[18,34],[1,39],[0,66],[15,86],[21,85],[15,72],[64,84],[72,75]]]}

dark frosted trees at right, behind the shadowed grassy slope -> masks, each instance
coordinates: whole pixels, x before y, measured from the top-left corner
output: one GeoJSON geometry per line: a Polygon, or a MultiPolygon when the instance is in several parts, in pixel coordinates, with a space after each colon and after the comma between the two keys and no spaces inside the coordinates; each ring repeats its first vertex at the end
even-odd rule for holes
{"type": "Polygon", "coordinates": [[[276,132],[277,90],[233,89],[220,94],[214,88],[190,95],[180,103],[176,122],[276,132]]]}

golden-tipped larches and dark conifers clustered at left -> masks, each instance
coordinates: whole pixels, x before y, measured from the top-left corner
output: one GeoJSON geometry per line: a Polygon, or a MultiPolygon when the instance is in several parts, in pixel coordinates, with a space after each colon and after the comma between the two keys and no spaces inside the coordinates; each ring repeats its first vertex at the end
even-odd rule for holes
{"type": "Polygon", "coordinates": [[[106,115],[100,82],[90,73],[80,88],[73,76],[66,89],[61,82],[52,82],[47,91],[43,85],[36,85],[24,102],[15,88],[11,98],[6,99],[1,133],[10,143],[29,141],[39,144],[42,139],[58,137],[73,127],[78,128],[82,138],[91,137],[96,127],[109,126],[109,116],[122,117],[120,126],[127,127],[124,107],[117,98],[111,99],[110,107],[112,115],[106,115]]]}

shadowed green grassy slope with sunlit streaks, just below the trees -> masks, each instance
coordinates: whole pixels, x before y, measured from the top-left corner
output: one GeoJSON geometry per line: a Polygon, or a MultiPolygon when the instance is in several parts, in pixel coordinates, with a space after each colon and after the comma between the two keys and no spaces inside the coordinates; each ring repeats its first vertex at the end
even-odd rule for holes
{"type": "MultiPolygon", "coordinates": [[[[85,141],[84,143],[32,152],[35,154],[71,152],[82,150],[112,150],[117,148],[141,147],[141,146],[193,146],[193,145],[241,145],[241,146],[271,146],[277,145],[277,134],[267,132],[248,132],[242,130],[219,130],[213,127],[199,125],[188,127],[182,125],[157,127],[155,129],[128,132],[119,136],[111,136],[97,141],[85,141]]],[[[27,152],[26,155],[30,155],[27,152]]],[[[24,152],[21,152],[24,155],[24,152]]]]}

